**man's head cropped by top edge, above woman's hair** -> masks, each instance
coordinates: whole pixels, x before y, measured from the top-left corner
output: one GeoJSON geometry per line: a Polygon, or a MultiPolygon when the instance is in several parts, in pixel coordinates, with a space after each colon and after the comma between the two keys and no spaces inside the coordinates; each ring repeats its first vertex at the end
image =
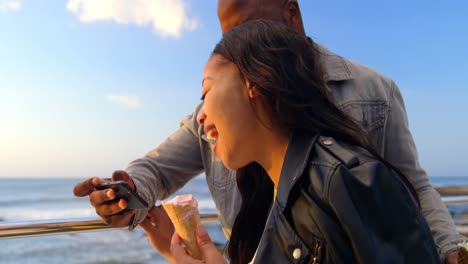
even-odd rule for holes
{"type": "Polygon", "coordinates": [[[249,20],[268,19],[305,35],[297,0],[219,0],[218,19],[223,33],[249,20]]]}

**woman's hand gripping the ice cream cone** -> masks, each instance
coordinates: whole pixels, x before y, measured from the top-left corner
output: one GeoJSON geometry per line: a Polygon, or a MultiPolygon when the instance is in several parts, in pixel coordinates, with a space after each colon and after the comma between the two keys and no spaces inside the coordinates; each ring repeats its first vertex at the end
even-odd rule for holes
{"type": "Polygon", "coordinates": [[[197,242],[203,256],[203,260],[197,260],[190,257],[182,246],[182,240],[177,233],[174,233],[171,240],[172,263],[184,264],[219,264],[227,263],[223,255],[211,241],[208,232],[202,224],[197,226],[197,242]]]}

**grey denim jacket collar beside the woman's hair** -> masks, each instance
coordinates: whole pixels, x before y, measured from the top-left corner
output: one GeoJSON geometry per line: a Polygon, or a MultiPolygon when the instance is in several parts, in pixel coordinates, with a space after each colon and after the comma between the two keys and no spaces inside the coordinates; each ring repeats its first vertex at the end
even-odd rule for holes
{"type": "Polygon", "coordinates": [[[320,44],[314,42],[314,45],[319,51],[319,60],[323,66],[324,79],[326,82],[354,79],[343,57],[336,55],[320,44]]]}

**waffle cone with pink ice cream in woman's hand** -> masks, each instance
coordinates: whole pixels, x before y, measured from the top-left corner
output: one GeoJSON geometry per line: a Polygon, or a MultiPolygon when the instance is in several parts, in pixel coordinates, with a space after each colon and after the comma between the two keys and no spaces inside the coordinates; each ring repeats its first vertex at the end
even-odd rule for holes
{"type": "Polygon", "coordinates": [[[202,255],[195,234],[197,225],[200,222],[197,200],[191,194],[185,194],[176,196],[168,202],[163,202],[162,205],[190,256],[201,260],[202,255]]]}

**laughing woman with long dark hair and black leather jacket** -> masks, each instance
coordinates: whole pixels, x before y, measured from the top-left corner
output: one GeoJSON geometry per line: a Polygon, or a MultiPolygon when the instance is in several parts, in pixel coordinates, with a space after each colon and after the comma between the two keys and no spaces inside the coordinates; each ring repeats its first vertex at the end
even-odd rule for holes
{"type": "Polygon", "coordinates": [[[257,20],[226,32],[206,64],[197,120],[243,197],[230,262],[438,263],[416,192],[333,104],[317,53],[257,20]]]}

